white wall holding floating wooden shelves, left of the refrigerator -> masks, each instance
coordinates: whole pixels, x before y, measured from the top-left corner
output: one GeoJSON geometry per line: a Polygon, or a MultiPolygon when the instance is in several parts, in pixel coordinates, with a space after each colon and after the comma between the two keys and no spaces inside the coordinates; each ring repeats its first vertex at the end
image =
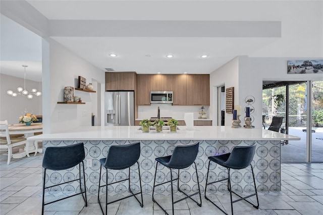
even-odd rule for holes
{"type": "Polygon", "coordinates": [[[49,78],[43,79],[43,84],[49,85],[50,89],[49,103],[45,103],[43,108],[50,110],[49,116],[45,116],[50,119],[48,124],[50,129],[46,132],[53,133],[67,128],[91,125],[91,114],[93,110],[97,110],[97,98],[94,99],[94,97],[100,94],[75,90],[74,96],[81,97],[82,102],[86,104],[58,104],[57,102],[64,100],[64,87],[77,87],[78,76],[86,78],[87,84],[92,80],[101,80],[104,83],[104,72],[76,56],[60,43],[52,39],[48,39],[47,42],[49,43],[49,70],[43,73],[46,73],[45,77],[49,75],[49,78]]]}

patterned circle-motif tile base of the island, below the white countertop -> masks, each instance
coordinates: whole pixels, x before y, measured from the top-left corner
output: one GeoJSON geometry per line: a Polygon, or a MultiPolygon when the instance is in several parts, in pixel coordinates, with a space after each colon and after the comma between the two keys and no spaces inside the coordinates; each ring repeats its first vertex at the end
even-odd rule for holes
{"type": "MultiPolygon", "coordinates": [[[[55,141],[43,141],[43,150],[49,146],[66,146],[72,145],[77,142],[84,142],[85,147],[85,177],[86,177],[86,189],[87,195],[97,195],[98,192],[98,180],[100,163],[99,159],[106,157],[107,150],[111,145],[124,145],[135,142],[136,140],[88,140],[88,141],[70,141],[70,140],[55,140],[55,141]],[[92,166],[87,167],[87,159],[92,160],[92,166]]],[[[171,155],[176,145],[188,145],[196,142],[196,140],[142,140],[140,141],[141,156],[139,158],[140,173],[142,180],[143,194],[152,194],[153,187],[153,175],[156,167],[155,158],[161,156],[171,155]]],[[[256,153],[254,155],[252,166],[254,168],[257,190],[260,192],[277,191],[281,189],[281,166],[280,166],[280,141],[270,140],[200,140],[199,151],[195,160],[198,168],[198,176],[196,176],[194,167],[186,168],[180,172],[179,186],[183,190],[197,190],[196,178],[198,177],[200,182],[201,191],[204,191],[206,173],[208,167],[208,156],[215,154],[228,153],[232,151],[236,145],[251,145],[254,142],[257,143],[256,153]]],[[[209,179],[217,180],[227,177],[228,172],[226,168],[211,163],[209,179]]],[[[156,182],[162,183],[170,180],[169,169],[162,165],[158,165],[156,182]]],[[[139,175],[136,171],[137,166],[131,167],[131,189],[139,190],[139,175]]],[[[177,177],[178,172],[173,171],[173,177],[177,177]]],[[[62,182],[74,179],[78,177],[78,167],[71,168],[66,171],[47,171],[46,173],[46,185],[55,185],[62,182]]],[[[105,183],[105,170],[102,169],[101,180],[105,183]],[[104,174],[103,174],[104,173],[104,174]]],[[[128,170],[114,171],[109,170],[107,180],[113,182],[114,180],[123,180],[128,176],[128,170]]],[[[253,191],[255,188],[252,181],[251,168],[243,170],[231,171],[232,188],[238,193],[253,191]]],[[[174,185],[177,183],[174,182],[174,185]]],[[[178,192],[175,186],[175,192],[178,192]]],[[[82,185],[83,187],[83,185],[82,185]]],[[[108,193],[111,196],[114,195],[128,195],[127,188],[128,183],[116,183],[108,186],[108,193]]],[[[217,183],[216,185],[210,185],[207,187],[208,192],[213,194],[227,193],[227,181],[224,183],[217,183]]],[[[46,196],[62,196],[70,195],[79,190],[79,184],[77,182],[71,184],[65,184],[50,188],[45,191],[46,196]]],[[[105,192],[105,188],[103,188],[105,192]]],[[[161,195],[170,194],[170,183],[161,185],[158,187],[157,192],[161,195]]]]}

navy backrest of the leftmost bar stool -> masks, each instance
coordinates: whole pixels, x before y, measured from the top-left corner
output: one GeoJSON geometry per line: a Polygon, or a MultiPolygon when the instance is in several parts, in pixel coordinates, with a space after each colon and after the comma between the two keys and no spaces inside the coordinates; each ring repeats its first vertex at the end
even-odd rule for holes
{"type": "Polygon", "coordinates": [[[75,167],[85,158],[84,144],[48,147],[45,150],[42,167],[48,170],[66,170],[75,167]]]}

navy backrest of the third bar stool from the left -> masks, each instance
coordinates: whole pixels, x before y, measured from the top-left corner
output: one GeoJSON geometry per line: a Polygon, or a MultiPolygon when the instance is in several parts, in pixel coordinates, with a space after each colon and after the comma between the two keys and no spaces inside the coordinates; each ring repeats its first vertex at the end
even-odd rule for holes
{"type": "Polygon", "coordinates": [[[184,169],[191,166],[197,156],[198,146],[199,142],[192,145],[176,146],[168,163],[168,167],[173,169],[184,169]]]}

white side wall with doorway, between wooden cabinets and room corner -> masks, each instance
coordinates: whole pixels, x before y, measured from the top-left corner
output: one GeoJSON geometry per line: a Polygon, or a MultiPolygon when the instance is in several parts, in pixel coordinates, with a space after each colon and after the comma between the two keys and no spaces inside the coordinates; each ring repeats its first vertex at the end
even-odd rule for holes
{"type": "MultiPolygon", "coordinates": [[[[218,86],[225,84],[225,88],[234,87],[234,104],[239,104],[239,57],[234,58],[210,74],[210,110],[209,118],[212,124],[218,122],[218,86]]],[[[221,110],[220,110],[221,111],[221,110]]],[[[221,116],[221,115],[220,115],[221,116]]],[[[241,119],[241,118],[240,118],[241,119]]],[[[225,125],[232,125],[232,114],[225,114],[225,125]]]]}

